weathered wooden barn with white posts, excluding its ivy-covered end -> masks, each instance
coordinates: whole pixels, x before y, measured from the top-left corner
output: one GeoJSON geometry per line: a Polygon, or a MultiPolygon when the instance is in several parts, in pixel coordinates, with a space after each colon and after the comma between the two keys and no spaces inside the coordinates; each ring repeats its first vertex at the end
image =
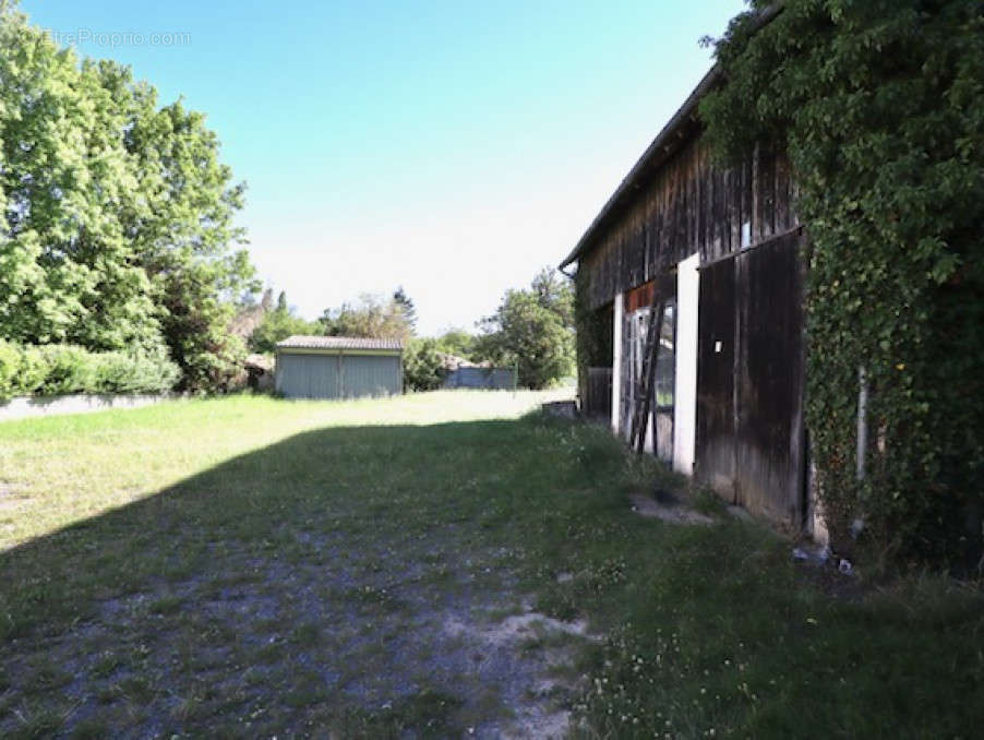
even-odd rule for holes
{"type": "Polygon", "coordinates": [[[711,160],[696,114],[719,74],[704,77],[561,264],[576,264],[590,311],[581,404],[729,501],[812,528],[805,236],[781,152],[760,147],[730,169],[711,160]]]}

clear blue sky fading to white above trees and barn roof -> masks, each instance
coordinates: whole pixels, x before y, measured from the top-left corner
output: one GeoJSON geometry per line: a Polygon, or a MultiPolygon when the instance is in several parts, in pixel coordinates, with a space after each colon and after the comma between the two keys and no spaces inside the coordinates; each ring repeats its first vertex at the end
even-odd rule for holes
{"type": "Polygon", "coordinates": [[[742,8],[22,0],[207,114],[249,186],[253,262],[302,315],[403,285],[424,334],[473,329],[561,261],[742,8]]]}

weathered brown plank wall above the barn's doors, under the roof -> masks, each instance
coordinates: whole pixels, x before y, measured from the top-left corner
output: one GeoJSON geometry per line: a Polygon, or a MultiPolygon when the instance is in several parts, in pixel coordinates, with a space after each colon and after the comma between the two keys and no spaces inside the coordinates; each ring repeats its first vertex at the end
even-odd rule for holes
{"type": "Polygon", "coordinates": [[[711,160],[694,126],[581,258],[590,307],[651,281],[696,251],[705,264],[740,249],[745,222],[751,222],[753,244],[789,231],[797,225],[793,199],[784,156],[760,148],[741,167],[723,169],[711,160]]]}

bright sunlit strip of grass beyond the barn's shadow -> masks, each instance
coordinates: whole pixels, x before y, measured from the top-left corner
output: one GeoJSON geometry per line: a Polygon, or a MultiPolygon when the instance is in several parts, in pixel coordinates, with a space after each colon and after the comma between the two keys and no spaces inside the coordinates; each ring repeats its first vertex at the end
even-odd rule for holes
{"type": "Polygon", "coordinates": [[[0,550],[299,432],[517,418],[569,395],[443,391],[350,402],[241,395],[0,422],[0,550]]]}

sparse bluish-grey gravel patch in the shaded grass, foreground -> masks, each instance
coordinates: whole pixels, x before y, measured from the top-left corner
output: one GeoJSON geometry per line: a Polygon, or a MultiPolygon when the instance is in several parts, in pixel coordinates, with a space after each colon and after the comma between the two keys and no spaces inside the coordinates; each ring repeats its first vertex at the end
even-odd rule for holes
{"type": "MultiPolygon", "coordinates": [[[[225,542],[194,577],[145,584],[53,638],[9,645],[4,705],[68,700],[65,733],[109,706],[128,717],[112,725],[117,738],[207,732],[218,719],[307,737],[317,735],[307,717],[319,703],[379,712],[440,691],[459,702],[469,736],[566,733],[574,657],[596,637],[585,622],[533,611],[500,553],[451,566],[434,542],[302,541],[312,557],[290,562],[225,542]],[[48,693],[19,685],[39,663],[70,679],[48,693]],[[310,705],[285,701],[299,676],[321,692],[310,705]],[[199,697],[223,708],[188,716],[199,697]]],[[[0,736],[20,723],[0,713],[0,736]]]]}

